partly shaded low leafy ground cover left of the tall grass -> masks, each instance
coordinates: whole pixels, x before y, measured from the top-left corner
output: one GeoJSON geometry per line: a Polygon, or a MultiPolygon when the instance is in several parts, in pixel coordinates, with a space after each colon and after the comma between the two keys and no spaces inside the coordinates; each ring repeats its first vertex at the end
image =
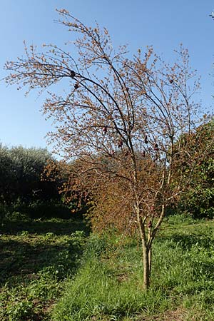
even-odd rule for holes
{"type": "Polygon", "coordinates": [[[0,320],[50,320],[85,244],[80,220],[10,221],[1,225],[0,320]]]}

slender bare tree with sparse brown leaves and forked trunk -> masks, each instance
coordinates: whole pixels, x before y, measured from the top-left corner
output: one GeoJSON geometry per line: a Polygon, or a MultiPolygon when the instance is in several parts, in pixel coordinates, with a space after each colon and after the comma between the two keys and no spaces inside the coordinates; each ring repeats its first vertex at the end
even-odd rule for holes
{"type": "Polygon", "coordinates": [[[29,92],[67,81],[67,93],[48,92],[44,103],[44,114],[56,124],[50,141],[66,159],[78,159],[79,184],[88,178],[97,188],[111,178],[112,185],[123,185],[121,198],[128,199],[141,235],[147,289],[151,248],[165,210],[185,190],[195,163],[208,150],[194,158],[188,153],[188,139],[198,121],[199,106],[193,102],[198,79],[183,46],[172,66],[152,47],[129,58],[126,46],[113,49],[107,29],[85,26],[65,9],[58,14],[60,24],[79,34],[72,42],[78,58],[52,44],[44,45],[42,54],[30,46],[26,58],[6,63],[11,71],[6,82],[27,86],[29,92]],[[190,160],[189,175],[179,174],[178,179],[178,168],[180,173],[186,170],[183,157],[190,160]]]}

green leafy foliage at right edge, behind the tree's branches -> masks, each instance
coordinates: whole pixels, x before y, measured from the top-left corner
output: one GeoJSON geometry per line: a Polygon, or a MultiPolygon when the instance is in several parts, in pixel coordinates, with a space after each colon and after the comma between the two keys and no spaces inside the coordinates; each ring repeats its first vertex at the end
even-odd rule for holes
{"type": "MultiPolygon", "coordinates": [[[[187,143],[187,142],[185,142],[187,143]]],[[[214,218],[214,119],[197,128],[190,138],[189,153],[198,157],[202,151],[210,150],[209,156],[198,158],[193,173],[185,168],[187,179],[193,175],[190,188],[180,201],[181,210],[187,210],[194,218],[214,218]]]]}

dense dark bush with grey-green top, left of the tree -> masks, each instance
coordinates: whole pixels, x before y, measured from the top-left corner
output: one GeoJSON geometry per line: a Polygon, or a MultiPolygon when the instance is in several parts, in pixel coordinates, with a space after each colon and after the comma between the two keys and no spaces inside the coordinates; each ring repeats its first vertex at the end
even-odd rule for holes
{"type": "Polygon", "coordinates": [[[58,180],[42,179],[48,161],[46,149],[7,148],[0,145],[0,220],[71,218],[58,193],[58,180]]]}

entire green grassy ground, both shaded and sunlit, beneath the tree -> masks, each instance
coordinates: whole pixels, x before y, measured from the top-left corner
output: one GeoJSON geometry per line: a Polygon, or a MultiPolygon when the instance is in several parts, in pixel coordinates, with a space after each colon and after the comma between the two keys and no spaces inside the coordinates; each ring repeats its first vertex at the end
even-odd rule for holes
{"type": "Polygon", "coordinates": [[[0,320],[214,320],[213,220],[165,220],[148,292],[138,240],[83,230],[75,220],[2,226],[0,320]]]}

